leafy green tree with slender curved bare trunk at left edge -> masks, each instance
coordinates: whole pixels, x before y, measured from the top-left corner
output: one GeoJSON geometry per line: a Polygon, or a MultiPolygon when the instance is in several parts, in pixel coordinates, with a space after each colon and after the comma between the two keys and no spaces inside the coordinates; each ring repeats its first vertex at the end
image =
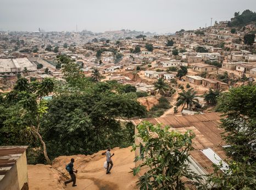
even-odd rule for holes
{"type": "Polygon", "coordinates": [[[8,144],[34,144],[32,136],[35,136],[43,146],[44,158],[48,164],[51,164],[51,160],[47,156],[45,143],[40,134],[42,115],[46,113],[47,107],[45,102],[40,101],[37,103],[37,98],[43,92],[43,94],[47,94],[53,90],[53,87],[51,90],[47,88],[48,86],[43,85],[44,81],[45,79],[38,85],[34,85],[37,82],[29,85],[25,78],[18,79],[13,91],[7,94],[4,105],[1,107],[6,112],[0,116],[2,118],[0,120],[0,133],[9,133],[14,138],[9,139],[8,144]]]}

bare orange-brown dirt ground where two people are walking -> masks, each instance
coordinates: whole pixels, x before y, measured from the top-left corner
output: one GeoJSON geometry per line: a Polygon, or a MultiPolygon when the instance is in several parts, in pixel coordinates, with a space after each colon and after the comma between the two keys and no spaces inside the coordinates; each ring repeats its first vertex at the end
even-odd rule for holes
{"type": "Polygon", "coordinates": [[[73,155],[61,156],[54,159],[52,168],[49,165],[29,165],[29,188],[30,189],[74,189],[74,190],[112,190],[112,189],[138,189],[136,187],[137,176],[133,176],[131,168],[135,166],[133,163],[135,154],[131,152],[131,147],[114,148],[112,153],[115,153],[113,160],[113,169],[111,174],[106,175],[103,164],[105,155],[102,155],[104,150],[93,155],[73,155]],[[74,168],[78,170],[76,175],[76,187],[72,187],[72,183],[64,186],[63,176],[69,176],[65,170],[65,165],[74,158],[74,168]]]}

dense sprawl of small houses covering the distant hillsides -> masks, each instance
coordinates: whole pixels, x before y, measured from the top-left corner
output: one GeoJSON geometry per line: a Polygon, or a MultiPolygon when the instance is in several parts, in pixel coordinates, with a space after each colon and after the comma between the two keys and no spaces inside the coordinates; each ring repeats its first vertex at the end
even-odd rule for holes
{"type": "MultiPolygon", "coordinates": [[[[246,28],[254,30],[251,25],[246,28]]],[[[146,92],[152,92],[151,85],[160,78],[168,83],[186,81],[196,86],[228,90],[239,86],[240,79],[254,81],[256,77],[256,54],[244,50],[247,45],[241,42],[246,31],[231,33],[224,21],[207,29],[170,36],[125,38],[123,32],[122,38],[120,32],[113,31],[106,32],[102,38],[81,40],[84,33],[86,31],[63,33],[40,29],[0,32],[0,81],[12,81],[17,74],[25,74],[27,79],[55,77],[62,80],[62,69],[57,68],[59,54],[69,55],[81,65],[81,72],[86,76],[98,69],[104,76],[102,80],[133,86],[141,86],[143,81],[149,87],[138,90],[146,92]],[[107,40],[108,37],[113,39],[113,33],[119,34],[119,40],[107,40]],[[168,41],[172,42],[171,46],[166,46],[168,41]],[[182,66],[186,66],[188,72],[186,76],[177,77],[177,70],[182,66]],[[221,81],[219,75],[224,73],[232,82],[221,81]]]]}

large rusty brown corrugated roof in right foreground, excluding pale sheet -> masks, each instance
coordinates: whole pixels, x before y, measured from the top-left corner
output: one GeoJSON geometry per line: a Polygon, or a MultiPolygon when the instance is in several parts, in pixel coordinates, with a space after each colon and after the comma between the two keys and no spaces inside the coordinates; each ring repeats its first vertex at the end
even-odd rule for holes
{"type": "Polygon", "coordinates": [[[190,156],[201,169],[210,174],[213,172],[213,161],[201,150],[210,148],[213,150],[214,154],[219,156],[218,158],[222,160],[227,158],[222,149],[225,142],[221,138],[221,133],[224,132],[224,130],[219,127],[221,124],[220,119],[220,113],[207,113],[201,115],[172,115],[166,118],[132,120],[132,123],[133,125],[138,125],[142,121],[149,121],[154,125],[162,124],[162,126],[170,126],[169,130],[176,130],[181,133],[192,130],[196,137],[192,140],[194,150],[190,152],[190,156]]]}

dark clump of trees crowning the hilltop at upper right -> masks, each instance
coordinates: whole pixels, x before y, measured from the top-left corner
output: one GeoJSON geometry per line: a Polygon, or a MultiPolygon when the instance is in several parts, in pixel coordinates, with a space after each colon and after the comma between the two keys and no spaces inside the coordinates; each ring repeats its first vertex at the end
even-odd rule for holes
{"type": "Polygon", "coordinates": [[[229,21],[228,26],[230,27],[245,26],[251,23],[256,24],[256,13],[251,10],[244,10],[242,14],[235,12],[234,16],[235,17],[229,21]]]}

